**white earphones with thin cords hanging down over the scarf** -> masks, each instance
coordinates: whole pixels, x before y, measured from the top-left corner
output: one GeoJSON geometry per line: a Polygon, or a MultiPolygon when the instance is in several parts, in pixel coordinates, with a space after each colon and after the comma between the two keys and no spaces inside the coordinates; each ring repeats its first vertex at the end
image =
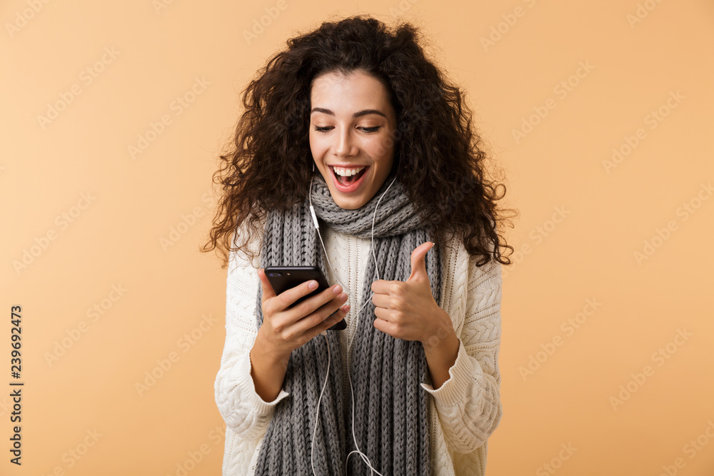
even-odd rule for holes
{"type": "MultiPolygon", "coordinates": [[[[315,171],[315,163],[313,162],[313,172],[314,172],[314,171],[315,171]]],[[[382,196],[379,197],[379,200],[377,201],[377,204],[376,204],[376,206],[374,207],[374,214],[373,214],[373,216],[372,216],[372,237],[371,237],[371,240],[372,240],[372,241],[371,241],[371,247],[370,247],[370,248],[372,248],[372,256],[373,256],[373,258],[374,258],[374,270],[375,270],[375,272],[377,273],[377,280],[379,280],[379,270],[377,269],[377,255],[376,255],[376,253],[374,252],[374,221],[375,221],[376,218],[377,218],[377,207],[379,206],[379,202],[382,201],[382,198],[385,196],[385,194],[387,193],[387,191],[389,190],[389,188],[392,186],[392,183],[394,183],[394,181],[396,181],[396,179],[397,179],[397,178],[396,178],[396,176],[395,176],[395,177],[393,178],[393,180],[391,181],[391,183],[389,184],[389,186],[387,187],[387,190],[385,190],[384,193],[382,193],[382,196]]],[[[317,216],[316,216],[316,214],[315,214],[315,208],[313,208],[313,206],[312,206],[312,184],[313,184],[313,178],[311,177],[311,178],[310,178],[310,189],[309,189],[309,191],[308,191],[308,197],[309,197],[309,199],[310,199],[310,214],[312,215],[313,223],[315,224],[315,229],[317,230],[317,234],[318,234],[318,236],[320,237],[320,243],[322,243],[322,249],[323,249],[323,251],[325,252],[325,259],[327,260],[328,263],[330,263],[330,258],[328,258],[327,250],[326,250],[326,248],[325,248],[325,243],[323,242],[323,240],[322,240],[322,235],[320,234],[320,226],[319,226],[319,224],[318,224],[317,216]]],[[[332,265],[332,263],[330,263],[330,265],[332,265]]],[[[347,288],[346,288],[345,285],[342,283],[342,281],[338,278],[337,268],[333,268],[333,271],[334,271],[334,273],[335,273],[335,278],[338,280],[338,283],[340,283],[340,285],[342,286],[342,289],[343,289],[343,290],[346,290],[347,288]]],[[[364,306],[366,306],[367,303],[369,303],[369,300],[372,298],[373,295],[374,295],[374,293],[372,293],[372,295],[369,297],[369,299],[366,301],[366,303],[364,303],[364,304],[362,305],[362,307],[357,311],[357,313],[356,313],[357,323],[359,323],[359,315],[360,315],[361,311],[364,309],[364,306]]],[[[355,333],[357,333],[357,324],[355,324],[355,333]]],[[[328,376],[330,375],[330,343],[329,343],[328,340],[327,340],[327,330],[323,330],[323,331],[321,332],[321,335],[323,335],[323,337],[325,338],[325,343],[327,344],[327,373],[325,374],[325,383],[323,383],[323,385],[322,385],[322,391],[320,392],[320,397],[319,397],[318,400],[317,400],[317,410],[316,410],[316,417],[315,417],[315,428],[314,428],[314,430],[313,430],[312,443],[311,443],[311,446],[310,446],[310,464],[312,465],[313,475],[315,475],[315,476],[317,476],[317,475],[316,475],[316,472],[315,472],[315,465],[314,465],[314,463],[313,463],[313,445],[315,444],[315,435],[316,435],[316,432],[317,432],[317,423],[318,423],[318,419],[319,419],[319,417],[320,417],[320,401],[322,400],[322,394],[323,394],[323,392],[325,391],[325,387],[326,387],[326,385],[327,385],[327,378],[328,378],[328,376]]],[[[354,423],[354,419],[355,419],[355,408],[354,408],[355,394],[354,394],[354,390],[353,390],[353,388],[352,388],[352,378],[350,377],[350,356],[351,356],[351,355],[350,355],[350,350],[351,350],[351,348],[352,348],[352,341],[354,340],[354,338],[355,338],[355,336],[353,335],[353,336],[352,336],[352,339],[350,340],[350,342],[348,343],[348,346],[347,346],[347,378],[348,378],[349,381],[350,381],[350,393],[351,393],[351,397],[352,397],[352,405],[351,405],[351,406],[352,406],[352,438],[353,438],[353,440],[354,440],[354,442],[355,442],[355,447],[356,447],[357,449],[351,451],[351,452],[347,455],[347,457],[346,457],[346,459],[345,459],[345,473],[347,473],[347,461],[350,459],[350,455],[351,455],[352,453],[356,452],[358,455],[361,455],[362,460],[363,460],[364,462],[366,462],[366,464],[369,466],[371,472],[376,472],[379,476],[383,476],[381,472],[378,472],[377,470],[375,470],[375,469],[372,467],[372,464],[371,464],[369,458],[367,457],[367,455],[365,455],[363,452],[360,451],[359,445],[357,445],[357,437],[355,436],[355,423],[354,423]]],[[[371,472],[370,472],[370,474],[371,474],[371,472]]]]}

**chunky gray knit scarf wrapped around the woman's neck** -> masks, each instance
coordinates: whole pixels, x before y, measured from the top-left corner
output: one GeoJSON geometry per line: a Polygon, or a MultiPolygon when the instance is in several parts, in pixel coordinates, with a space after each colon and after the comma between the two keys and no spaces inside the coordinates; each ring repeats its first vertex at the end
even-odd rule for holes
{"type": "MultiPolygon", "coordinates": [[[[370,201],[357,210],[339,207],[320,174],[313,181],[312,203],[318,219],[343,233],[371,237],[374,208],[393,178],[384,181],[370,201]]],[[[429,240],[411,201],[395,181],[379,202],[374,223],[374,247],[379,277],[405,281],[411,274],[411,253],[429,240]]],[[[317,265],[326,273],[326,260],[313,226],[308,200],[286,213],[268,213],[261,267],[268,265],[317,265]]],[[[361,257],[366,259],[367,257],[361,257]]],[[[441,255],[436,247],[426,254],[426,270],[436,303],[441,305],[441,255]]],[[[359,449],[384,476],[431,475],[427,394],[423,346],[418,341],[396,339],[374,328],[371,283],[376,279],[370,250],[361,291],[361,303],[369,300],[358,318],[352,343],[350,377],[355,395],[354,432],[359,449]]],[[[348,290],[346,290],[348,291],[348,290]]],[[[263,324],[262,287],[258,287],[257,325],[263,324]]],[[[352,303],[356,303],[351,298],[352,303]]],[[[358,309],[355,305],[353,309],[358,309]]],[[[328,331],[330,377],[320,403],[320,419],[313,447],[318,476],[344,475],[345,460],[356,450],[351,428],[351,397],[343,395],[343,375],[338,332],[328,331]],[[345,421],[344,415],[348,420],[345,421]]],[[[310,449],[318,397],[328,370],[327,344],[316,335],[293,350],[283,390],[290,395],[275,407],[261,451],[256,475],[312,475],[310,449]]],[[[348,475],[370,475],[361,455],[348,460],[348,475]]]]}

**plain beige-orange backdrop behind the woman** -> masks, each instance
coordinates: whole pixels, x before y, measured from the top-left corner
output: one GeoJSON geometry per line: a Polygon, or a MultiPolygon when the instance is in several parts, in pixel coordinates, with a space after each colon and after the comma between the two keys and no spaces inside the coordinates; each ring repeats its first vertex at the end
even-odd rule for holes
{"type": "Polygon", "coordinates": [[[220,474],[211,173],[266,59],[360,12],[423,29],[521,212],[488,475],[714,474],[711,1],[159,1],[0,5],[1,474],[220,474]]]}

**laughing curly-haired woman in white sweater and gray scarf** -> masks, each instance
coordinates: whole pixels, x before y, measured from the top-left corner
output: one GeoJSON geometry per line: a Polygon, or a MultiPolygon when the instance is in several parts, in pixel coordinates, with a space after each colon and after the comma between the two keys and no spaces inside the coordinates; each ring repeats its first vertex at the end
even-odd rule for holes
{"type": "Polygon", "coordinates": [[[462,101],[413,26],[368,16],[288,40],[246,88],[204,247],[229,265],[223,475],[485,471],[513,248],[462,101]],[[343,285],[290,308],[310,283],[276,295],[267,265],[343,285]]]}

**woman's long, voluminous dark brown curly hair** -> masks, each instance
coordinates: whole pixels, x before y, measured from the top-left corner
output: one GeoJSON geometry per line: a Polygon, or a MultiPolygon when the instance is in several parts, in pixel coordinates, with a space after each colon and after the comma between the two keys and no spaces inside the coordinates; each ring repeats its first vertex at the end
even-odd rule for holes
{"type": "Polygon", "coordinates": [[[463,93],[426,58],[419,40],[411,24],[390,31],[364,15],[323,22],[288,39],[288,49],[269,59],[243,90],[246,110],[213,174],[222,193],[201,251],[218,248],[222,268],[233,250],[252,259],[248,243],[256,234],[262,239],[258,223],[267,212],[306,200],[313,173],[308,141],[313,80],[333,71],[364,71],[388,90],[398,124],[393,167],[434,243],[458,236],[470,255],[482,257],[478,266],[492,256],[511,264],[500,248],[513,252],[513,247],[497,230],[505,217],[496,201],[506,186],[486,178],[486,153],[463,93]],[[246,219],[242,242],[231,243],[246,219]]]}

